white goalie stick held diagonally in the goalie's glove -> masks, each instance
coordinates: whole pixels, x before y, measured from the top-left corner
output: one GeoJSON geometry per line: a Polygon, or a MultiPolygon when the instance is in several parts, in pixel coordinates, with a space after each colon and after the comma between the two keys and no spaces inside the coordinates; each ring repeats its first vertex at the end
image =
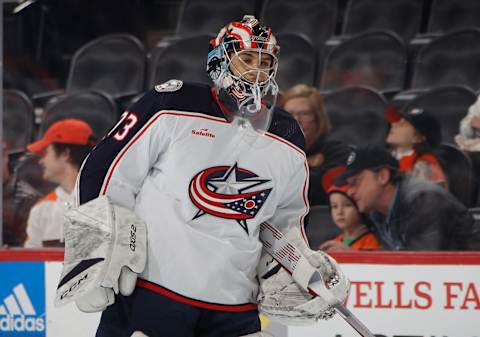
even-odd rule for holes
{"type": "Polygon", "coordinates": [[[262,223],[260,226],[260,241],[265,250],[277,260],[289,273],[292,274],[296,282],[308,284],[311,293],[320,296],[330,304],[340,314],[340,316],[354,328],[363,337],[375,337],[373,333],[350,311],[342,302],[335,298],[327,289],[325,281],[320,273],[310,266],[302,252],[292,245],[284,235],[275,227],[268,223],[262,223]],[[298,280],[295,269],[302,265],[304,268],[310,268],[311,275],[308,280],[298,280]]]}

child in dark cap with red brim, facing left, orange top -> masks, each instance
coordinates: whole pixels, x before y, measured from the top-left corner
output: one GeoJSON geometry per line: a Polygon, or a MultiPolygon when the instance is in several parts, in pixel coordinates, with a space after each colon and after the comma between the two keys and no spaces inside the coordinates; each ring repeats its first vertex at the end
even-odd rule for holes
{"type": "Polygon", "coordinates": [[[446,175],[434,155],[442,142],[440,121],[423,109],[385,109],[390,123],[387,144],[398,159],[401,172],[447,186],[446,175]]]}

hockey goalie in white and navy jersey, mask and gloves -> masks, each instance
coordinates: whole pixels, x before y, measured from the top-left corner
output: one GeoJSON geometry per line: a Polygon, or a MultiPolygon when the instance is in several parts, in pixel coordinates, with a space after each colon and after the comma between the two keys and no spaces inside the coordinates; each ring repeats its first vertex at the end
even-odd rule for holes
{"type": "Polygon", "coordinates": [[[266,336],[259,310],[308,324],[346,298],[347,278],[303,233],[308,165],[276,107],[279,55],[255,17],[228,23],[210,41],[212,87],[157,85],[83,163],[56,301],[102,311],[97,337],[266,336]]]}

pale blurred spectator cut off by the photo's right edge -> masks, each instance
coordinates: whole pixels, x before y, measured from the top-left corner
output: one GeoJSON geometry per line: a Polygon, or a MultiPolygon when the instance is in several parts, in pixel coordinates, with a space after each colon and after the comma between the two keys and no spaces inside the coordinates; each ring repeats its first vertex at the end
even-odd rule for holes
{"type": "Polygon", "coordinates": [[[460,122],[460,133],[455,141],[463,151],[480,151],[480,96],[460,122]]]}

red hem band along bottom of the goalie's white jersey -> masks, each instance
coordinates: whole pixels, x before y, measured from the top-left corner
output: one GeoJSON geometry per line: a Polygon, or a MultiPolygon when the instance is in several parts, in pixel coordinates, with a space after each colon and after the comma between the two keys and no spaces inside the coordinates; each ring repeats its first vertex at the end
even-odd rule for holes
{"type": "Polygon", "coordinates": [[[216,304],[216,303],[209,303],[209,302],[194,300],[192,298],[177,294],[176,292],[173,292],[165,287],[162,287],[158,284],[155,284],[147,280],[138,279],[137,286],[148,289],[150,291],[153,291],[165,297],[168,297],[174,301],[188,304],[197,308],[208,309],[208,310],[218,310],[218,311],[228,311],[228,312],[242,312],[242,311],[257,310],[257,305],[253,303],[228,305],[228,304],[216,304]]]}

